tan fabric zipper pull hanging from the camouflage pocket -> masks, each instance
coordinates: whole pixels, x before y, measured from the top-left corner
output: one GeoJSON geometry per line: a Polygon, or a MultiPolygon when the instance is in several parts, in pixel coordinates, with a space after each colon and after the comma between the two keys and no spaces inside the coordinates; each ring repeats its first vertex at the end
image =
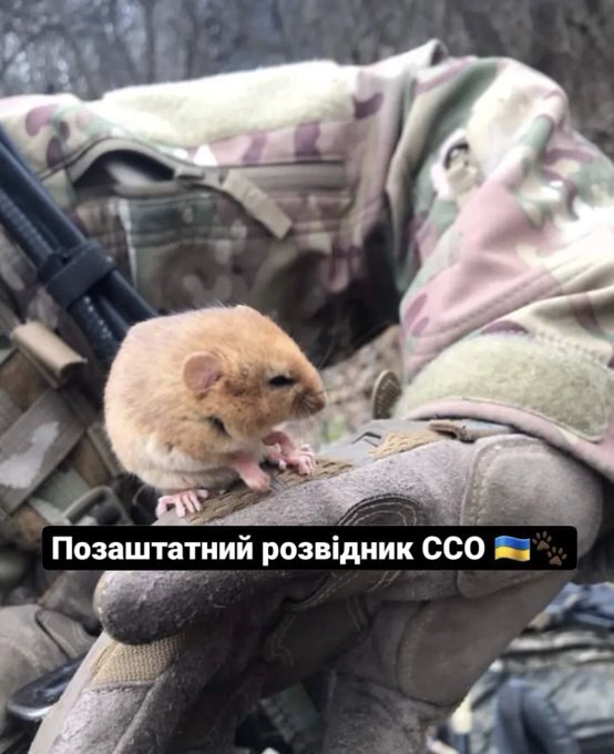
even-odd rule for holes
{"type": "Polygon", "coordinates": [[[227,194],[276,238],[285,238],[293,225],[293,221],[282,207],[255,183],[242,175],[241,170],[224,172],[212,167],[182,165],[175,171],[175,180],[227,194]]]}

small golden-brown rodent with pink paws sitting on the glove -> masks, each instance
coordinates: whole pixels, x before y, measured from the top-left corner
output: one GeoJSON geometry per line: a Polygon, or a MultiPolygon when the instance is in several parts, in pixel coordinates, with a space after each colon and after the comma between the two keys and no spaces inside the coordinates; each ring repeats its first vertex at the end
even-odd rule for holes
{"type": "Polygon", "coordinates": [[[268,460],[311,473],[314,454],[275,427],[317,414],[317,369],[267,316],[213,307],[134,325],[111,365],[104,419],[126,471],[156,488],[156,514],[196,511],[207,490],[241,477],[266,490],[268,460]]]}

